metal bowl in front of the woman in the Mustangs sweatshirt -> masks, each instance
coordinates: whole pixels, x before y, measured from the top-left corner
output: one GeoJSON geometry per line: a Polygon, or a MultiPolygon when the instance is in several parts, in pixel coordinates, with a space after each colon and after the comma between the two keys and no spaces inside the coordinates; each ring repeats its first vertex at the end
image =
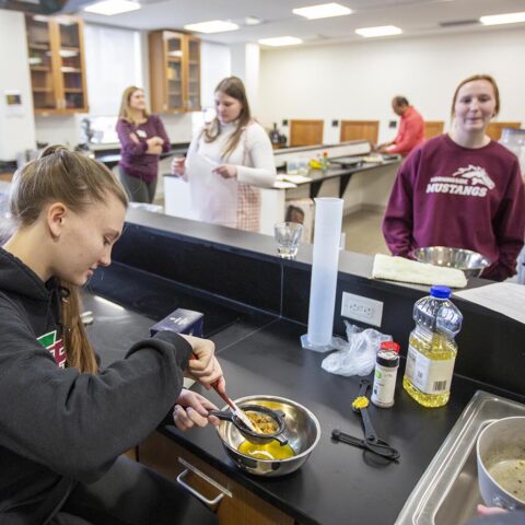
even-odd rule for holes
{"type": "Polygon", "coordinates": [[[412,256],[419,262],[456,268],[462,270],[467,278],[479,277],[483,269],[490,266],[490,260],[477,252],[446,246],[417,248],[412,252],[412,256]]]}

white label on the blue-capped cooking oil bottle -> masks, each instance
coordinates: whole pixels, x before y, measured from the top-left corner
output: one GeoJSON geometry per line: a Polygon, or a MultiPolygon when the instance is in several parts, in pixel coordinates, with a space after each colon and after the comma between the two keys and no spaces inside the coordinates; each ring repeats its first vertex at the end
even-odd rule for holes
{"type": "Polygon", "coordinates": [[[405,375],[424,394],[444,394],[451,389],[456,358],[434,361],[408,347],[405,375]]]}

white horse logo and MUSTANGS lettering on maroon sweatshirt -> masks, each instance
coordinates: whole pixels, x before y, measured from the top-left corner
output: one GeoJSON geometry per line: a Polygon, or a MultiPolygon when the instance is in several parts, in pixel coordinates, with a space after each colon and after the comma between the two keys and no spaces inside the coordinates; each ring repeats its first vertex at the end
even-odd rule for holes
{"type": "Polygon", "coordinates": [[[486,197],[488,191],[495,188],[487,170],[469,164],[459,167],[452,176],[434,176],[427,185],[428,194],[450,194],[467,197],[486,197]]]}

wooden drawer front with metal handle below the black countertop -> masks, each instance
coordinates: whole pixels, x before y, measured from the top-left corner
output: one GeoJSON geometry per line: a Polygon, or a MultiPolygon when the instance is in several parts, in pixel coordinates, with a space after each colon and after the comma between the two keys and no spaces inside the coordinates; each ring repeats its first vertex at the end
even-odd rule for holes
{"type": "Polygon", "coordinates": [[[294,520],[160,432],[139,445],[139,462],[170,479],[217,513],[220,525],[294,525],[294,520]],[[206,502],[203,500],[207,500],[206,502]]]}

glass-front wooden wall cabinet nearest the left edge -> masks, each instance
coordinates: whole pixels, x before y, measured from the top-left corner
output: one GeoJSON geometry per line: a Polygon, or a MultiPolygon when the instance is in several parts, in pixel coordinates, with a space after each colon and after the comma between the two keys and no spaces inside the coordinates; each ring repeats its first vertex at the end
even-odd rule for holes
{"type": "Polygon", "coordinates": [[[86,113],[83,21],[26,15],[25,27],[35,114],[86,113]]]}

